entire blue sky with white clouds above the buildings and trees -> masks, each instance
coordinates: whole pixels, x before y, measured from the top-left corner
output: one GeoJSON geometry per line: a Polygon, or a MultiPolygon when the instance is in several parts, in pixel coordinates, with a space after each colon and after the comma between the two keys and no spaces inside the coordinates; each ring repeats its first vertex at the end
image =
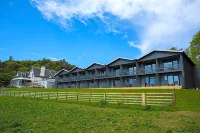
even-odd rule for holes
{"type": "Polygon", "coordinates": [[[66,59],[79,67],[187,48],[200,0],[0,0],[0,60],[66,59]]]}

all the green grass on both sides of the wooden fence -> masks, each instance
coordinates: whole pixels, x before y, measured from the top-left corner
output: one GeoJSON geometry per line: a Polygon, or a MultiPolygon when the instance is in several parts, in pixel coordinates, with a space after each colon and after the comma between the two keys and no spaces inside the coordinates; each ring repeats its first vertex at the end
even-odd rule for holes
{"type": "MultiPolygon", "coordinates": [[[[5,90],[5,89],[4,89],[5,90]]],[[[172,90],[14,89],[9,91],[172,92],[172,90]]],[[[0,96],[0,132],[200,131],[200,91],[176,90],[177,107],[71,102],[0,96]]]]}

